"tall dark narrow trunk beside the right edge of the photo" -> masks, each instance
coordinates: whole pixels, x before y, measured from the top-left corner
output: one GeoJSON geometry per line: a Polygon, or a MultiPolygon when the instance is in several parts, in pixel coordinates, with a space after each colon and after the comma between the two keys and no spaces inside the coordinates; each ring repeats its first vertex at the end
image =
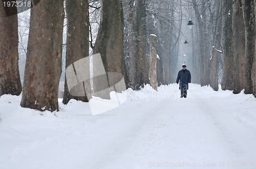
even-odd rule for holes
{"type": "Polygon", "coordinates": [[[255,3],[254,0],[242,0],[245,26],[245,94],[252,94],[252,65],[255,53],[255,3]]]}

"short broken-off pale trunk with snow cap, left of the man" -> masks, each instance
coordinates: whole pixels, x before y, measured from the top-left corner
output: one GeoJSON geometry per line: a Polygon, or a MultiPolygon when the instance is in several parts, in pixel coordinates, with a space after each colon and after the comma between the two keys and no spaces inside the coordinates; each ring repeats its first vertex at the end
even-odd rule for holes
{"type": "Polygon", "coordinates": [[[157,37],[150,35],[150,84],[157,91],[157,37]]]}

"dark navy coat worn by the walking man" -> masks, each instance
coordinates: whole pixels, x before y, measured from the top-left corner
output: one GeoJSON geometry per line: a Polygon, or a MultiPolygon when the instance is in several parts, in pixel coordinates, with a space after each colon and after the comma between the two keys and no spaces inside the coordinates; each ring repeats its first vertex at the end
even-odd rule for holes
{"type": "Polygon", "coordinates": [[[180,90],[188,90],[188,83],[191,83],[191,74],[190,71],[180,70],[176,79],[176,83],[179,83],[180,81],[180,90]]]}

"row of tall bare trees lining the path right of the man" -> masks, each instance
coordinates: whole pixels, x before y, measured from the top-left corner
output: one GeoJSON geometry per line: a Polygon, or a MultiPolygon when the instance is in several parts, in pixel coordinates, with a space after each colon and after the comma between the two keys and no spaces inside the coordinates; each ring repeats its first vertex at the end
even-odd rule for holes
{"type": "Polygon", "coordinates": [[[193,0],[192,5],[200,32],[198,82],[218,90],[221,69],[223,90],[256,96],[255,1],[193,0]]]}

